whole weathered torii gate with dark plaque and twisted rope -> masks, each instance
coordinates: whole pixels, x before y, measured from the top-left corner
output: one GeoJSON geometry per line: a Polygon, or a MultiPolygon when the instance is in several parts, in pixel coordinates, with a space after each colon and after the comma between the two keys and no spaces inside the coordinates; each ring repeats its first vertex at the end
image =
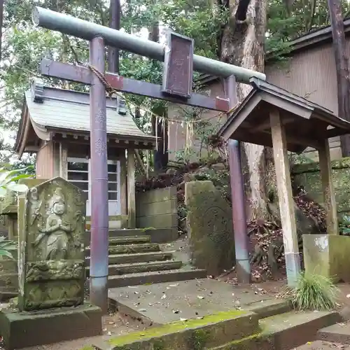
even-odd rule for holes
{"type": "MultiPolygon", "coordinates": [[[[90,300],[107,311],[109,274],[109,214],[106,136],[106,90],[139,94],[169,102],[199,106],[230,113],[237,103],[236,80],[249,83],[249,78],[265,80],[265,74],[193,54],[193,39],[169,32],[167,45],[144,40],[116,29],[73,18],[45,8],[36,7],[32,15],[35,25],[60,31],[90,41],[88,67],[64,64],[50,59],[41,62],[41,73],[90,85],[90,149],[91,149],[91,243],[90,243],[90,300]],[[165,62],[163,84],[123,78],[105,73],[105,45],[165,62]],[[193,94],[193,69],[224,78],[225,97],[206,97],[193,94]]],[[[232,141],[232,140],[231,140],[232,141]]],[[[235,246],[241,281],[249,281],[244,191],[239,158],[239,144],[231,142],[230,166],[232,214],[235,225],[235,246]]]]}

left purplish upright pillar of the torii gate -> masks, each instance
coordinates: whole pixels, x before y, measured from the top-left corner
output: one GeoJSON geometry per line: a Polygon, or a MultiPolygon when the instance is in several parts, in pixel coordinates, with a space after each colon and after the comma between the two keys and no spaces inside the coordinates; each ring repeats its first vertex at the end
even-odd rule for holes
{"type": "MultiPolygon", "coordinates": [[[[104,39],[90,41],[90,66],[104,74],[104,39]]],[[[109,198],[106,87],[96,74],[90,85],[91,243],[90,300],[107,311],[109,275],[109,198]]]]}

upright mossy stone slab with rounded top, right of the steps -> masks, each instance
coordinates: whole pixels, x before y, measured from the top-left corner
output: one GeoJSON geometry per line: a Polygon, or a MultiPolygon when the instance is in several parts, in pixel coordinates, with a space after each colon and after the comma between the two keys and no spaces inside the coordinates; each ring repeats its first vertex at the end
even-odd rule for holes
{"type": "Polygon", "coordinates": [[[217,276],[235,266],[232,209],[211,181],[186,183],[190,253],[193,265],[217,276]]]}

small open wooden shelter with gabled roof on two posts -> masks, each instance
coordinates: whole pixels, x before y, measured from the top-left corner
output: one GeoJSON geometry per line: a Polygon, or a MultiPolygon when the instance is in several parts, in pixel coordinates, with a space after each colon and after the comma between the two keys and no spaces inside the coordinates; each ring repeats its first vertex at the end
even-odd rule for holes
{"type": "Polygon", "coordinates": [[[288,151],[301,153],[308,146],[318,151],[327,231],[338,235],[328,139],[350,134],[350,123],[258,78],[251,78],[251,85],[253,90],[221,127],[219,136],[273,148],[288,284],[293,285],[300,260],[288,151]]]}

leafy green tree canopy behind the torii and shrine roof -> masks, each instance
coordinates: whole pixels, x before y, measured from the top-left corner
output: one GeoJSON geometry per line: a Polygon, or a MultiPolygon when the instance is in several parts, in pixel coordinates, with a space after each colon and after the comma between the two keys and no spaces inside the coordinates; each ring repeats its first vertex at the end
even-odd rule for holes
{"type": "MultiPolygon", "coordinates": [[[[221,32],[228,23],[228,8],[223,1],[209,0],[128,0],[122,3],[121,27],[135,33],[143,28],[152,29],[161,25],[195,40],[195,53],[218,59],[221,32]]],[[[349,13],[349,2],[344,0],[344,14],[349,13]]],[[[88,45],[86,41],[65,36],[55,31],[36,28],[31,22],[31,10],[39,5],[62,13],[102,25],[109,23],[109,2],[104,0],[8,0],[5,3],[3,21],[3,52],[1,52],[1,80],[3,99],[0,100],[0,127],[16,130],[22,109],[23,94],[29,88],[29,78],[38,75],[42,57],[59,59],[63,62],[86,64],[88,45]]],[[[290,11],[285,1],[267,2],[267,35],[265,52],[274,52],[274,59],[283,60],[290,47],[288,41],[310,30],[329,24],[327,0],[295,0],[290,11]]],[[[161,33],[162,34],[162,33],[161,33]]],[[[129,52],[120,52],[120,73],[128,78],[161,83],[162,63],[144,59],[129,52]]],[[[269,56],[271,57],[271,55],[269,56]]],[[[44,78],[45,83],[56,87],[87,90],[87,87],[44,78]]],[[[145,131],[151,130],[152,113],[167,118],[167,103],[151,101],[146,97],[126,96],[135,122],[145,131]],[[136,116],[135,106],[151,111],[136,116]]],[[[181,113],[185,120],[186,112],[181,113]]],[[[193,116],[190,116],[193,118],[193,116]]],[[[209,150],[208,135],[214,133],[217,125],[209,121],[199,122],[197,113],[194,132],[200,141],[200,154],[209,150]]],[[[190,120],[190,119],[189,119],[190,120]]],[[[2,140],[3,141],[3,140],[2,140]]],[[[2,142],[1,150],[11,153],[10,145],[2,142]]],[[[188,160],[189,150],[179,154],[179,159],[188,160]]],[[[6,154],[7,154],[6,153],[6,154]]],[[[8,161],[6,159],[6,161],[8,161]]]]}

